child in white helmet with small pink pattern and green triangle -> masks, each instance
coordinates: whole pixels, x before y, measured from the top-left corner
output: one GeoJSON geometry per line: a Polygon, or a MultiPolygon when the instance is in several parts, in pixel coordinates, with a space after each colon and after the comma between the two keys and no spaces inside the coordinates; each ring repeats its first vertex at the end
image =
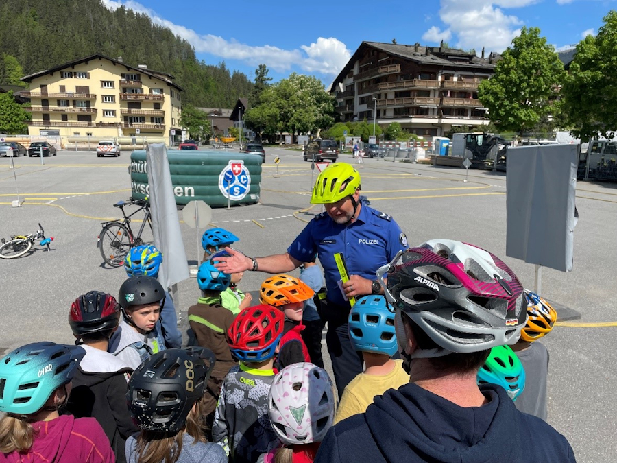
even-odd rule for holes
{"type": "Polygon", "coordinates": [[[263,461],[312,462],[336,412],[328,373],[310,363],[291,364],[274,377],[268,396],[269,416],[282,447],[263,461]]]}

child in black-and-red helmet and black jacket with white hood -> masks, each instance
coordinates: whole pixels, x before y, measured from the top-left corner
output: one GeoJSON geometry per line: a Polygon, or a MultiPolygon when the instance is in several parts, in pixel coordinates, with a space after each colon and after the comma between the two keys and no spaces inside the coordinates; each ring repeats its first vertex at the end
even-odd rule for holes
{"type": "Polygon", "coordinates": [[[123,463],[126,439],[137,431],[124,394],[133,368],[107,352],[109,338],[118,329],[120,306],[114,296],[90,291],[71,304],[69,324],[86,351],[73,377],[66,405],[75,418],[96,418],[107,435],[116,460],[123,463]]]}

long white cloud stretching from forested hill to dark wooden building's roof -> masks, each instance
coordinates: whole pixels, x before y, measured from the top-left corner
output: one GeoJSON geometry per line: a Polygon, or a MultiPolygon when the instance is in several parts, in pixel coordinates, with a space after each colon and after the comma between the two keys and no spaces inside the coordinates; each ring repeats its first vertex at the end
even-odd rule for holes
{"type": "Polygon", "coordinates": [[[156,12],[133,0],[103,0],[110,9],[116,10],[124,6],[135,12],[147,14],[153,23],[169,27],[173,34],[184,38],[197,53],[208,53],[226,60],[241,60],[256,66],[266,64],[274,71],[290,71],[299,67],[302,71],[322,74],[337,74],[351,57],[351,52],[344,43],[336,38],[317,38],[316,43],[302,45],[300,49],[281,49],[272,45],[252,46],[239,43],[237,40],[227,40],[212,34],[198,34],[193,29],[177,25],[163,19],[156,12]]]}

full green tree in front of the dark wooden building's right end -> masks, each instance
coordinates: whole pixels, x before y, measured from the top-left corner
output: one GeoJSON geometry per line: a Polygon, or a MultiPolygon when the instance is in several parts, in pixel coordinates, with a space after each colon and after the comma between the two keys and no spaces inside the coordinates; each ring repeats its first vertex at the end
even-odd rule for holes
{"type": "Polygon", "coordinates": [[[537,27],[523,27],[502,57],[495,75],[481,82],[478,97],[499,130],[529,132],[559,110],[564,65],[537,27]]]}

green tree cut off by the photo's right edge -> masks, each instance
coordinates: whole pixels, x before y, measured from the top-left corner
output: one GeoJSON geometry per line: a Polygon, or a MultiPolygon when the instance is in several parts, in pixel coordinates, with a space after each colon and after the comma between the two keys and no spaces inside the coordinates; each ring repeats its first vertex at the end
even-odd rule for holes
{"type": "Polygon", "coordinates": [[[577,45],[564,80],[561,96],[566,113],[564,126],[586,141],[611,136],[617,130],[617,12],[610,11],[597,36],[586,36],[577,45]]]}

